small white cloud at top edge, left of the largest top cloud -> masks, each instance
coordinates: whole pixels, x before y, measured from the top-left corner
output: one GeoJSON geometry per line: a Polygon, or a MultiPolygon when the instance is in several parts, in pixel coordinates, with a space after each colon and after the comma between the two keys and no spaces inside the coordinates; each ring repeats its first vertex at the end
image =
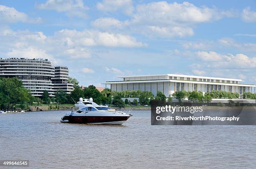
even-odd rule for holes
{"type": "Polygon", "coordinates": [[[127,15],[133,12],[132,0],[103,0],[102,3],[97,3],[96,7],[105,12],[122,10],[127,15]]]}

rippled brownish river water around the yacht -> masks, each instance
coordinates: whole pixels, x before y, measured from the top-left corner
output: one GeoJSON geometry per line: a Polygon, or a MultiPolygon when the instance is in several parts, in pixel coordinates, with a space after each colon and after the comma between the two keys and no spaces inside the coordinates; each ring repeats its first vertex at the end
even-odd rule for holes
{"type": "Polygon", "coordinates": [[[151,126],[131,111],[123,126],[63,124],[67,111],[0,115],[0,160],[32,168],[255,168],[256,126],[151,126]]]}

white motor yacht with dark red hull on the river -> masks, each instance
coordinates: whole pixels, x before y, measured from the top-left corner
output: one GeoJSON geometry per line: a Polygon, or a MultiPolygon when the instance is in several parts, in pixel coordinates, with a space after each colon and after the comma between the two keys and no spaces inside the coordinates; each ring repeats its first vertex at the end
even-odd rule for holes
{"type": "Polygon", "coordinates": [[[115,124],[122,125],[132,115],[116,111],[108,106],[99,106],[93,99],[79,98],[75,104],[77,111],[71,111],[61,118],[62,123],[115,124]]]}

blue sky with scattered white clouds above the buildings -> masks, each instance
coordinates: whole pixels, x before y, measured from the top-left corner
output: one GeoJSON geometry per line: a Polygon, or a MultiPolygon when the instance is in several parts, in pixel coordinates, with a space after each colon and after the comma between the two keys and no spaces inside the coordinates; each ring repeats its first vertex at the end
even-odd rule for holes
{"type": "Polygon", "coordinates": [[[82,86],[186,74],[256,84],[255,0],[0,0],[0,58],[48,58],[82,86]]]}

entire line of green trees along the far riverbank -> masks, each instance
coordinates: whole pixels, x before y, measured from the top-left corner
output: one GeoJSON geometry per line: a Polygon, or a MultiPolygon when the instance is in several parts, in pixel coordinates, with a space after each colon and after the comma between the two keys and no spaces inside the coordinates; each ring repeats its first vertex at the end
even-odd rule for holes
{"type": "MultiPolygon", "coordinates": [[[[239,98],[238,93],[230,93],[226,91],[211,91],[208,93],[203,93],[201,91],[177,91],[172,96],[166,98],[166,96],[161,92],[157,91],[156,96],[153,95],[151,91],[110,91],[110,89],[105,88],[102,92],[98,91],[95,86],[90,85],[82,89],[78,86],[76,79],[72,79],[75,83],[74,91],[70,94],[59,90],[55,93],[55,97],[50,97],[48,91],[44,91],[41,98],[34,97],[31,95],[30,91],[26,89],[22,81],[18,78],[0,78],[0,109],[5,108],[21,108],[26,109],[29,106],[59,103],[59,104],[73,104],[74,101],[77,102],[79,98],[93,98],[93,101],[97,104],[112,104],[114,106],[123,107],[125,104],[134,105],[150,105],[151,100],[169,100],[172,101],[172,97],[179,101],[187,98],[191,102],[198,103],[210,103],[212,98],[239,98]],[[123,101],[122,97],[137,97],[132,103],[128,102],[128,99],[123,101]],[[73,100],[74,99],[74,100],[73,100]]],[[[246,92],[243,93],[244,99],[256,99],[256,93],[246,92]]]]}

